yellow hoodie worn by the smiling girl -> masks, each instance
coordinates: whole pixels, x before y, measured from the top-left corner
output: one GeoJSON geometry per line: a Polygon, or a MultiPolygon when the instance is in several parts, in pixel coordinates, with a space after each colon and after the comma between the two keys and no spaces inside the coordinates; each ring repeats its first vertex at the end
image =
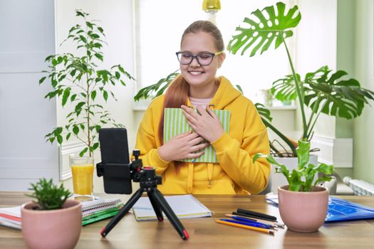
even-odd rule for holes
{"type": "MultiPolygon", "coordinates": [[[[266,127],[254,104],[241,95],[223,76],[218,78],[219,88],[209,105],[213,109],[229,110],[229,134],[222,134],[212,142],[217,163],[182,164],[175,170],[173,161],[160,158],[157,148],[162,146],[158,127],[162,114],[164,95],[156,97],[147,108],[137,131],[135,148],[140,149],[143,165],[153,166],[162,175],[163,194],[257,194],[265,189],[270,165],[259,159],[252,162],[254,154],[269,154],[266,127]]],[[[189,100],[187,105],[191,105],[189,100]]]]}

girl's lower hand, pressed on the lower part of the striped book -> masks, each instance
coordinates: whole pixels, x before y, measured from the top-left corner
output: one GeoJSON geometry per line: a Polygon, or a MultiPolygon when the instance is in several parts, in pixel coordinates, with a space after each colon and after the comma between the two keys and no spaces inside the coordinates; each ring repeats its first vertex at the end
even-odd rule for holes
{"type": "Polygon", "coordinates": [[[164,161],[175,161],[181,159],[194,159],[200,157],[204,152],[198,152],[209,145],[196,132],[186,132],[173,137],[158,149],[158,154],[164,161]]]}

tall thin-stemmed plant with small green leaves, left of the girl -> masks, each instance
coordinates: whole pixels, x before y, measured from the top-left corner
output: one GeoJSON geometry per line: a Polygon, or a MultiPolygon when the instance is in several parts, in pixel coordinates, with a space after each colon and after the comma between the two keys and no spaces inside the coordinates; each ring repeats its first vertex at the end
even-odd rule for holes
{"type": "MultiPolygon", "coordinates": [[[[68,102],[72,110],[66,115],[67,124],[64,127],[55,127],[52,132],[46,134],[49,142],[57,141],[62,144],[72,136],[85,144],[80,156],[88,154],[92,157],[95,149],[98,149],[98,131],[105,125],[123,127],[113,120],[110,112],[101,104],[109,98],[117,100],[110,88],[115,85],[125,86],[125,78],[135,80],[121,65],[113,65],[110,70],[99,68],[104,60],[102,51],[105,43],[103,28],[97,21],[89,21],[87,13],[76,10],[76,16],[82,20],[82,24],[76,24],[69,32],[63,43],[71,41],[76,44],[74,53],[49,55],[46,62],[48,70],[39,80],[42,84],[49,80],[53,90],[48,92],[45,98],[51,100],[58,97],[62,107],[68,102]]],[[[63,44],[61,43],[61,44],[63,44]]]]}

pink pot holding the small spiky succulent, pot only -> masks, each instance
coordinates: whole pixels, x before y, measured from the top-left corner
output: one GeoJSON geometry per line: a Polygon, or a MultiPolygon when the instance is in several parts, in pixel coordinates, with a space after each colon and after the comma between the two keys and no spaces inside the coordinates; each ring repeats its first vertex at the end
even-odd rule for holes
{"type": "Polygon", "coordinates": [[[21,207],[22,235],[28,248],[74,248],[82,228],[82,211],[79,201],[67,200],[63,208],[33,210],[36,204],[24,203],[21,207]]]}

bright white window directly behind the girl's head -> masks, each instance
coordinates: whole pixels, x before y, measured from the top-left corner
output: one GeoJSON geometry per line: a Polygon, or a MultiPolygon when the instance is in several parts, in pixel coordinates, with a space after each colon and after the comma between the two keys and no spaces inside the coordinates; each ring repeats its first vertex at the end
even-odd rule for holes
{"type": "MultiPolygon", "coordinates": [[[[225,46],[241,25],[256,9],[276,4],[276,1],[221,0],[217,26],[225,46]]],[[[202,0],[139,0],[135,1],[135,36],[138,89],[157,83],[179,68],[175,52],[180,50],[180,38],[187,26],[196,20],[207,19],[202,11],[202,0]]],[[[291,49],[292,51],[292,49],[291,49]]],[[[233,85],[241,85],[244,95],[258,102],[261,89],[291,73],[284,48],[269,49],[263,55],[232,55],[217,72],[233,85]]]]}

